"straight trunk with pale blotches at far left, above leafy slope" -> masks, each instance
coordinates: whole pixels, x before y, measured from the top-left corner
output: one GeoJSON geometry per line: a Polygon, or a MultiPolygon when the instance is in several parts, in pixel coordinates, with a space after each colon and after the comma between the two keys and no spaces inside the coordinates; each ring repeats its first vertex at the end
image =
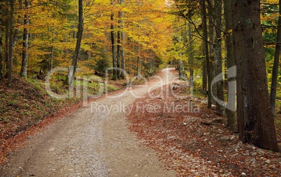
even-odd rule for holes
{"type": "MultiPolygon", "coordinates": [[[[25,0],[26,10],[29,8],[29,1],[25,0]]],[[[28,62],[28,40],[29,40],[29,15],[24,15],[24,33],[23,33],[23,42],[22,42],[22,68],[20,70],[20,75],[22,77],[27,77],[27,62],[28,62]]]]}

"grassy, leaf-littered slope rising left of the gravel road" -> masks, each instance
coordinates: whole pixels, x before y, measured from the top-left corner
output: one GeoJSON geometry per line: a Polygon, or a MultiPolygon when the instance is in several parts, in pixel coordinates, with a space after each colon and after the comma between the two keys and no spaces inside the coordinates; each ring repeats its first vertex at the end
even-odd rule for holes
{"type": "MultiPolygon", "coordinates": [[[[62,84],[52,84],[52,90],[62,94],[67,89],[62,84]],[[54,86],[55,85],[55,86],[54,86]]],[[[91,83],[88,90],[92,93],[98,90],[98,84],[91,83]]],[[[109,91],[118,88],[108,86],[109,91]]],[[[81,91],[82,93],[82,91],[81,91]]],[[[0,83],[0,149],[4,148],[4,141],[14,137],[22,130],[38,123],[50,114],[55,114],[59,109],[80,102],[81,98],[51,98],[41,81],[21,77],[13,79],[13,87],[6,86],[6,80],[0,83]]]]}

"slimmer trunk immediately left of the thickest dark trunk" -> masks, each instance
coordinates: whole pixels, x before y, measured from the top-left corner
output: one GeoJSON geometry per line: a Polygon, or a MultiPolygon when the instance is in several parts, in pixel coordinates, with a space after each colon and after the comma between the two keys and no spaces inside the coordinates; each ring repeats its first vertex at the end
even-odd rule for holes
{"type": "Polygon", "coordinates": [[[236,132],[235,121],[235,103],[236,103],[236,85],[235,77],[231,77],[230,68],[234,66],[233,59],[233,41],[232,33],[232,19],[231,19],[231,0],[224,0],[224,19],[226,27],[226,63],[227,63],[227,103],[226,103],[226,119],[227,127],[231,132],[236,132]]]}

